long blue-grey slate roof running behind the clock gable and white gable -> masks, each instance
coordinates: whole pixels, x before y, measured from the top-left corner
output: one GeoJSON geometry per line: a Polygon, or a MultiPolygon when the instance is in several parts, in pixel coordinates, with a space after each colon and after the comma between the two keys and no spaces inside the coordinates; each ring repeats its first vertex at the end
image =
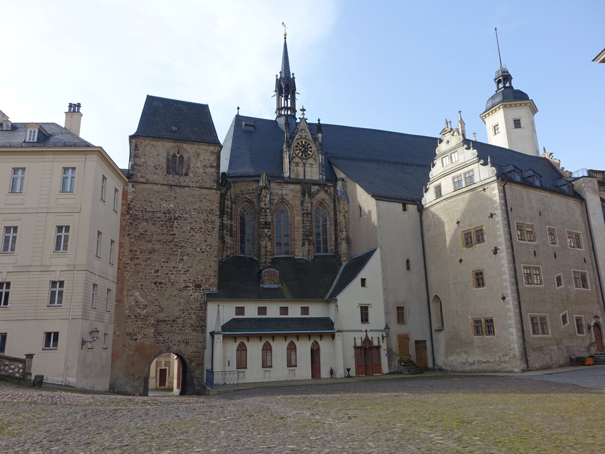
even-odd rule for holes
{"type": "MultiPolygon", "coordinates": [[[[316,127],[315,123],[309,123],[313,134],[316,127]]],[[[324,123],[322,133],[326,180],[336,179],[334,166],[373,197],[422,200],[437,137],[324,123]]],[[[283,142],[284,131],[275,120],[237,115],[224,140],[221,171],[231,178],[258,178],[261,173],[268,173],[272,178],[283,179],[283,142]],[[254,131],[244,131],[244,122],[254,123],[254,131]]],[[[467,145],[472,142],[484,163],[491,157],[496,168],[514,164],[521,171],[534,170],[542,176],[545,188],[555,189],[551,182],[561,178],[546,158],[468,139],[465,142],[467,145]]]]}

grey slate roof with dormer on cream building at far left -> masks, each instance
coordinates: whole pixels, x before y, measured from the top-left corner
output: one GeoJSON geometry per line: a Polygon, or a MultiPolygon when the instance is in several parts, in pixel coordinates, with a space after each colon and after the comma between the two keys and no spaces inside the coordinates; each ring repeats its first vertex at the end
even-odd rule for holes
{"type": "Polygon", "coordinates": [[[0,146],[94,146],[57,123],[35,123],[48,133],[48,137],[36,142],[25,142],[25,127],[30,123],[12,123],[10,130],[0,129],[0,146]]]}

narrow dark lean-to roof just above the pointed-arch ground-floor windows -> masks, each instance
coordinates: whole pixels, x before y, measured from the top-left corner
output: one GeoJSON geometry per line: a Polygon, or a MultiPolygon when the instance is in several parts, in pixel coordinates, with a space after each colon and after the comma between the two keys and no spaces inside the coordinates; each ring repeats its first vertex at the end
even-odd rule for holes
{"type": "MultiPolygon", "coordinates": [[[[262,317],[232,318],[221,326],[223,334],[257,334],[283,332],[334,332],[330,317],[262,317]]],[[[211,335],[214,331],[211,332],[211,335]]]]}

